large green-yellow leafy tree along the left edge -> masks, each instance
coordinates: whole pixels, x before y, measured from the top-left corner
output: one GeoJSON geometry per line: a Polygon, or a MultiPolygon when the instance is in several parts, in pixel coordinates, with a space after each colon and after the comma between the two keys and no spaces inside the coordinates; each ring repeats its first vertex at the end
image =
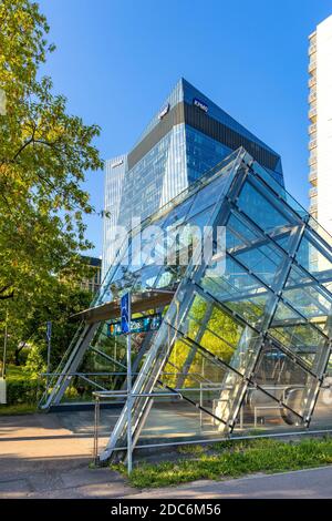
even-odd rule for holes
{"type": "Polygon", "coordinates": [[[0,326],[8,311],[13,341],[87,275],[83,217],[95,210],[82,184],[103,163],[93,145],[100,127],[69,115],[40,78],[54,45],[39,6],[2,0],[0,28],[0,326]]]}

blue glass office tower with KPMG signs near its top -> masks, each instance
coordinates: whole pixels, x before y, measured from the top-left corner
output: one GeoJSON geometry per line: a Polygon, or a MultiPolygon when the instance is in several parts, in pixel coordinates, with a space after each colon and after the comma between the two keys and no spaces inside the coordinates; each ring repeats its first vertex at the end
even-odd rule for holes
{"type": "Polygon", "coordinates": [[[103,275],[116,225],[144,221],[239,146],[283,186],[280,155],[180,79],[133,150],[106,162],[103,275]]]}

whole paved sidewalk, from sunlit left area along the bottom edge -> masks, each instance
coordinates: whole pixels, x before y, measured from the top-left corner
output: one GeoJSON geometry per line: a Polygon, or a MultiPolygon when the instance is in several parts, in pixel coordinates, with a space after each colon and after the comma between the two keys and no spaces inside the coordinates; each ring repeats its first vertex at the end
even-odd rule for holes
{"type": "Polygon", "coordinates": [[[89,469],[93,438],[75,415],[0,418],[0,499],[332,498],[332,467],[141,491],[108,469],[89,469]]]}

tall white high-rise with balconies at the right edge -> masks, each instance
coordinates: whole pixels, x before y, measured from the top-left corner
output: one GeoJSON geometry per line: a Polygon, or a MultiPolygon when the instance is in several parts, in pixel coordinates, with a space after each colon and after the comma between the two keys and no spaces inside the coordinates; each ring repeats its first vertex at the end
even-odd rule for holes
{"type": "Polygon", "coordinates": [[[309,42],[310,212],[332,234],[332,16],[309,42]]]}

